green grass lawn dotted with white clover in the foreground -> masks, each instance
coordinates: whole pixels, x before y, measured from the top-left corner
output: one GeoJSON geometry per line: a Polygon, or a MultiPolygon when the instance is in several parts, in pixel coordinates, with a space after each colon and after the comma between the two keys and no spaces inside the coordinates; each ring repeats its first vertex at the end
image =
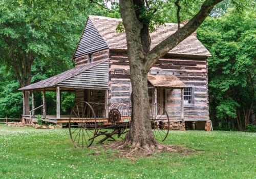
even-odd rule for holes
{"type": "Polygon", "coordinates": [[[0,125],[0,178],[256,178],[256,133],[170,131],[164,143],[197,152],[130,160],[75,149],[68,129],[0,125]]]}

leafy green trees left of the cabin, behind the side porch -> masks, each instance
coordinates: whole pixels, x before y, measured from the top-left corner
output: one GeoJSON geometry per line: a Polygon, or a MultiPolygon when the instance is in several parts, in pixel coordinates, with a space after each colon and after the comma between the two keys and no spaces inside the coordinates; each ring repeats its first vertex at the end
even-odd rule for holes
{"type": "MultiPolygon", "coordinates": [[[[106,15],[106,12],[115,15],[112,11],[85,0],[1,1],[0,61],[4,65],[1,80],[7,82],[3,83],[0,94],[0,111],[3,109],[0,116],[22,114],[21,94],[15,92],[17,88],[72,68],[71,58],[87,16],[106,15]]],[[[26,114],[29,96],[29,92],[23,96],[27,104],[26,114]]],[[[53,97],[53,93],[47,95],[48,105],[54,104],[53,97]]],[[[40,96],[36,97],[36,103],[40,105],[40,96]]]]}

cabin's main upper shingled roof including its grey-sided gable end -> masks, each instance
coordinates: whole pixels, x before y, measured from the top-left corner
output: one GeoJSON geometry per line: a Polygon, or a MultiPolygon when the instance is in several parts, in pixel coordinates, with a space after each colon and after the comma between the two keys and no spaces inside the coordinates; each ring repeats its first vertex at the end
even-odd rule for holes
{"type": "MultiPolygon", "coordinates": [[[[90,15],[73,57],[75,58],[104,48],[127,50],[125,32],[116,32],[120,21],[122,21],[121,18],[90,15]]],[[[183,25],[181,24],[181,26],[183,25]]],[[[156,27],[156,31],[150,33],[151,49],[176,31],[177,24],[166,23],[165,26],[156,27]]],[[[180,42],[168,54],[211,56],[194,34],[180,42]]]]}

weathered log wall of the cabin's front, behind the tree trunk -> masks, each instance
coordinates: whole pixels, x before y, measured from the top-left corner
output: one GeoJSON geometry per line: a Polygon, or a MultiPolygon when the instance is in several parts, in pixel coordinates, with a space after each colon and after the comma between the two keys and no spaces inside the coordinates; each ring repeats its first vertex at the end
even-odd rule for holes
{"type": "MultiPolygon", "coordinates": [[[[166,56],[157,61],[151,74],[175,75],[194,89],[194,106],[184,106],[184,120],[209,120],[208,77],[205,57],[166,56]]],[[[130,68],[126,53],[110,52],[110,102],[129,102],[130,68]]],[[[152,91],[149,92],[152,101],[152,91]]],[[[171,118],[181,116],[181,90],[167,89],[167,111],[171,118]]]]}

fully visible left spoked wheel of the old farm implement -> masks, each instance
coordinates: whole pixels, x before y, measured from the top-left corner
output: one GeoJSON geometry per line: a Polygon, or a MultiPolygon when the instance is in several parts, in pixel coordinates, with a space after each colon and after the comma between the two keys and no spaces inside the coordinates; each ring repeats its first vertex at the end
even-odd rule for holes
{"type": "Polygon", "coordinates": [[[87,102],[78,102],[69,118],[69,133],[76,148],[90,147],[96,135],[96,115],[87,102]]]}

